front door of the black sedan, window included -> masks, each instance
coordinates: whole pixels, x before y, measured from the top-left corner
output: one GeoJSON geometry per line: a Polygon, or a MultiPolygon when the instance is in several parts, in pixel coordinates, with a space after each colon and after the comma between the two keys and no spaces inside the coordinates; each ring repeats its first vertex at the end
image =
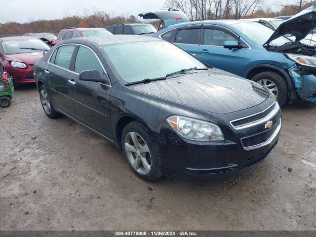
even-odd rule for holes
{"type": "Polygon", "coordinates": [[[79,74],[86,70],[97,70],[101,75],[106,74],[97,54],[91,48],[80,45],[74,64],[75,118],[111,139],[110,93],[112,87],[98,82],[79,80],[79,74]]]}

